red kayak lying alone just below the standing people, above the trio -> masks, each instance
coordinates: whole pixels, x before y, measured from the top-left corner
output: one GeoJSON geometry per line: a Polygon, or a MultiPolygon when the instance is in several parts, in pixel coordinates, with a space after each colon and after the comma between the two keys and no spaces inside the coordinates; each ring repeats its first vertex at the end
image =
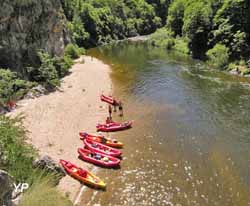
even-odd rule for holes
{"type": "Polygon", "coordinates": [[[101,131],[101,132],[121,131],[121,130],[129,129],[131,127],[132,127],[132,121],[124,122],[124,123],[112,122],[109,124],[98,124],[96,126],[97,131],[101,131]]]}

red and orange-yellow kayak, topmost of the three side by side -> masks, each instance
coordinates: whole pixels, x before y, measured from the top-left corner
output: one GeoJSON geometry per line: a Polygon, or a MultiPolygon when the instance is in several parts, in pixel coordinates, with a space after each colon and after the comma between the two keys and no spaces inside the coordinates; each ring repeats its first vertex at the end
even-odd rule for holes
{"type": "Polygon", "coordinates": [[[114,148],[122,148],[123,143],[117,141],[116,139],[110,139],[104,137],[102,134],[89,134],[87,132],[80,132],[79,135],[81,136],[80,139],[83,140],[84,138],[92,140],[94,142],[100,142],[102,144],[105,144],[109,147],[114,148]]]}

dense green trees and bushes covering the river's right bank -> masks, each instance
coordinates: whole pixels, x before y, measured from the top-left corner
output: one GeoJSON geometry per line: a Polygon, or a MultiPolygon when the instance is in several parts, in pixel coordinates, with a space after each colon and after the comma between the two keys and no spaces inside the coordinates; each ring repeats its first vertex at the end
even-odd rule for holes
{"type": "MultiPolygon", "coordinates": [[[[174,0],[166,29],[152,35],[154,45],[175,49],[176,40],[186,42],[194,58],[208,59],[220,69],[229,62],[250,58],[250,2],[247,0],[174,0]]],[[[184,50],[186,47],[179,50],[184,50]]],[[[242,63],[241,61],[241,63],[242,63]]]]}

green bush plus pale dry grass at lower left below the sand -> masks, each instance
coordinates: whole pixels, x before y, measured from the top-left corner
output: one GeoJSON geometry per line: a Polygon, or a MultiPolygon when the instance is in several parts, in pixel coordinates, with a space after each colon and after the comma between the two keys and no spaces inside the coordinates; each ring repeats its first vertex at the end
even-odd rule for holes
{"type": "Polygon", "coordinates": [[[72,205],[55,188],[58,175],[33,168],[37,151],[26,139],[22,117],[11,119],[0,115],[0,169],[8,171],[16,183],[27,182],[31,186],[21,205],[44,205],[45,202],[50,206],[72,205]]]}

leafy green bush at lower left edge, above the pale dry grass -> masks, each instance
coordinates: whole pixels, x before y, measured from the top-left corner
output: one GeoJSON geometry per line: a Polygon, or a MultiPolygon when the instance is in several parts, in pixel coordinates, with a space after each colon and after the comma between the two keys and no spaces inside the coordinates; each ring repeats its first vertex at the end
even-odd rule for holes
{"type": "Polygon", "coordinates": [[[25,182],[33,172],[36,151],[25,143],[26,132],[22,118],[0,116],[0,167],[17,182],[25,182]]]}

